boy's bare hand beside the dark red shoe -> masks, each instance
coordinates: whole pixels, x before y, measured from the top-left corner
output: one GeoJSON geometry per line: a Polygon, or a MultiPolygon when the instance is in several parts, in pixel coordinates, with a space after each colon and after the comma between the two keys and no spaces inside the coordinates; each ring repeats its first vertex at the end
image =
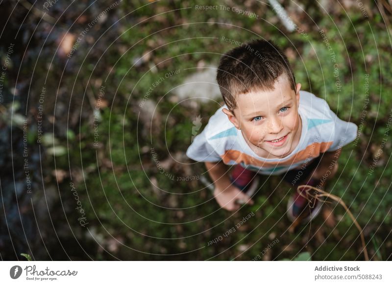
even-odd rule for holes
{"type": "Polygon", "coordinates": [[[240,205],[237,200],[245,201],[245,204],[253,205],[254,202],[248,195],[243,191],[239,190],[237,187],[230,185],[226,189],[220,189],[216,187],[214,190],[214,196],[221,208],[227,211],[237,211],[240,209],[240,205]]]}

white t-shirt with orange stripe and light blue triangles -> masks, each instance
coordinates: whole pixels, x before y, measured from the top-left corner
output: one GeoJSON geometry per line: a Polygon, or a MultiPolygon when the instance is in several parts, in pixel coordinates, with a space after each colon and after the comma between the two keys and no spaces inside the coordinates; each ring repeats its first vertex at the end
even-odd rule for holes
{"type": "Polygon", "coordinates": [[[298,145],[284,158],[266,159],[258,156],[222,112],[223,105],[210,118],[204,130],[195,137],[187,156],[198,162],[223,161],[226,165],[241,164],[261,174],[277,175],[300,168],[325,151],[334,151],[355,140],[358,127],[339,119],[324,99],[300,91],[298,113],[302,132],[298,145]]]}

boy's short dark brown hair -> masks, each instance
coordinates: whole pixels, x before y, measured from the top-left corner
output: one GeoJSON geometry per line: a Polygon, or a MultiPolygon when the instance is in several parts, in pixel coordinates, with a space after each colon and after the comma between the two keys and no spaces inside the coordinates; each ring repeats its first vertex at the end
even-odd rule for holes
{"type": "Polygon", "coordinates": [[[271,41],[254,40],[221,57],[217,81],[224,102],[234,110],[236,95],[273,90],[275,81],[283,72],[295,91],[294,73],[282,50],[271,41]]]}

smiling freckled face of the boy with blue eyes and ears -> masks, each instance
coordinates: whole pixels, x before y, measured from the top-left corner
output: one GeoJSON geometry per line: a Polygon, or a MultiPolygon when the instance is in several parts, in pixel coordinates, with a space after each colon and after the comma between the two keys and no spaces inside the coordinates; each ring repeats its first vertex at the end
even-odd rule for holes
{"type": "Polygon", "coordinates": [[[233,112],[223,109],[223,113],[241,129],[259,156],[284,157],[295,148],[300,137],[300,88],[298,83],[294,91],[282,74],[275,81],[274,90],[240,94],[236,109],[233,112]]]}

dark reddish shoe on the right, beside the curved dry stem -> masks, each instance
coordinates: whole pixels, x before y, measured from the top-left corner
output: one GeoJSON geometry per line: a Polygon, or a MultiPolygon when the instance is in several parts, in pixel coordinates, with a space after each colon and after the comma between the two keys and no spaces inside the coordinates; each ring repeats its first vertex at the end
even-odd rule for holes
{"type": "MultiPolygon", "coordinates": [[[[313,187],[316,187],[318,184],[319,180],[316,179],[310,179],[308,183],[306,183],[306,185],[313,187]]],[[[301,189],[301,193],[304,196],[307,196],[305,187],[301,189]]],[[[312,190],[310,193],[312,193],[312,190]]],[[[287,203],[287,216],[292,222],[302,215],[300,217],[301,223],[307,223],[317,217],[320,213],[322,202],[310,195],[308,197],[309,199],[301,196],[297,190],[290,196],[287,203]]]]}

